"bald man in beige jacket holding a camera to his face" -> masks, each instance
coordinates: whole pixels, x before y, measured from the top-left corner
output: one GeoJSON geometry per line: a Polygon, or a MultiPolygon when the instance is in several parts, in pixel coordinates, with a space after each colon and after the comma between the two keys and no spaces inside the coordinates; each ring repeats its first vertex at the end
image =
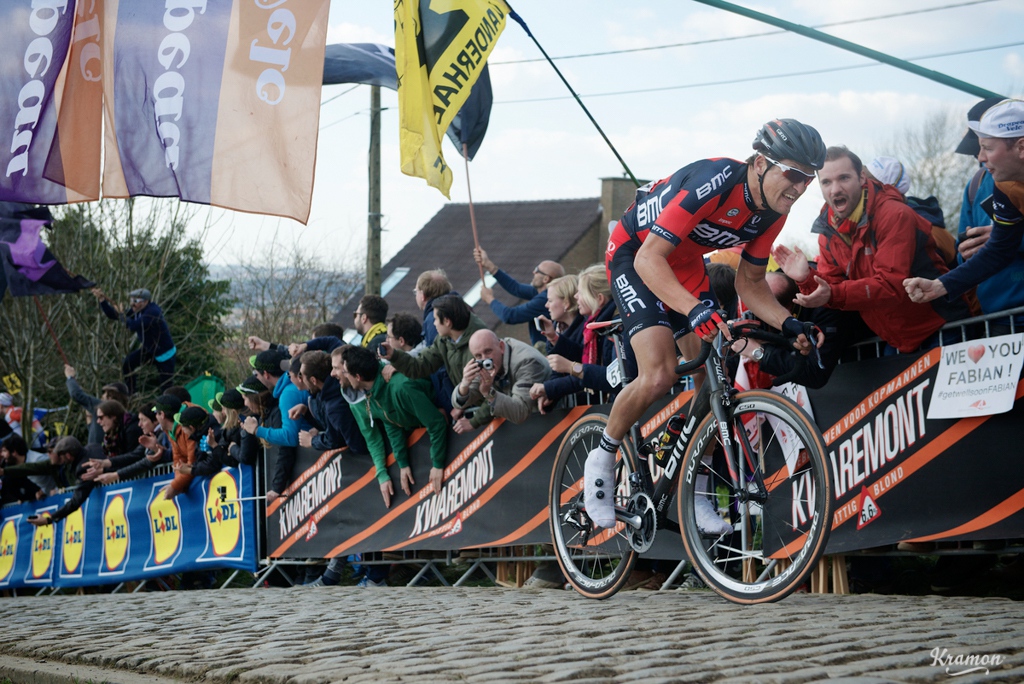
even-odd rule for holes
{"type": "Polygon", "coordinates": [[[463,370],[462,382],[452,393],[452,405],[465,411],[479,407],[472,418],[462,417],[455,431],[469,432],[494,418],[522,423],[537,405],[529,388],[551,377],[551,367],[540,351],[519,340],[498,338],[493,331],[480,330],[469,340],[473,358],[463,370]]]}

